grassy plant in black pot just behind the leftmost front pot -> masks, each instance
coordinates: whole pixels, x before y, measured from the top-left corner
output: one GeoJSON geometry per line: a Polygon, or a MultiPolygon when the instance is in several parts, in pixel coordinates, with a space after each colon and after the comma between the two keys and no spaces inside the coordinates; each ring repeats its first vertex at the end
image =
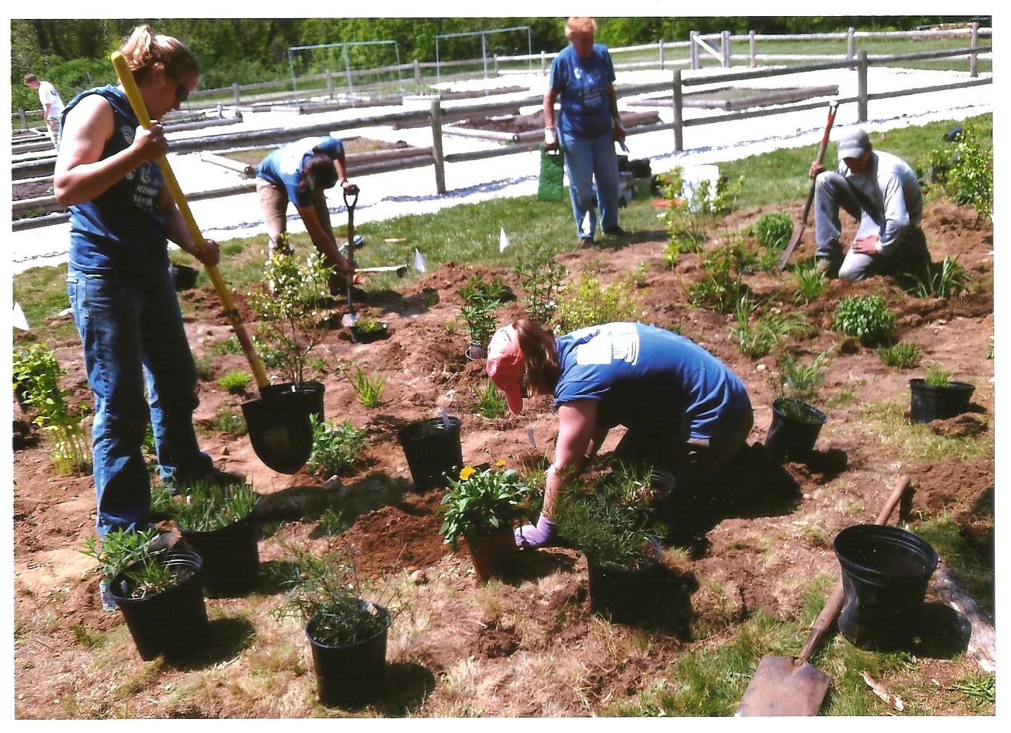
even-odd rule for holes
{"type": "Polygon", "coordinates": [[[208,595],[242,593],[256,582],[260,554],[253,511],[258,498],[247,483],[197,481],[166,502],[183,539],[203,559],[208,595]]]}

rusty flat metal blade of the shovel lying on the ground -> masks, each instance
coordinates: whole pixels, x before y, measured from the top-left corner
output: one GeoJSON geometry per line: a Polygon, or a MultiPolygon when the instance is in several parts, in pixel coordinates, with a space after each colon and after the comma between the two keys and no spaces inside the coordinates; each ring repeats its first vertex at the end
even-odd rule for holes
{"type": "Polygon", "coordinates": [[[763,656],[737,708],[737,715],[818,715],[829,676],[808,662],[789,656],[763,656]]]}

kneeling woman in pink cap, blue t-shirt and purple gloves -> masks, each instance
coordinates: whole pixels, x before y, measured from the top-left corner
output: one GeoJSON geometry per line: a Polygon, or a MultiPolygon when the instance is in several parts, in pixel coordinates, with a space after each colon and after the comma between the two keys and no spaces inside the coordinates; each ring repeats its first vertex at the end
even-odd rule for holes
{"type": "Polygon", "coordinates": [[[611,428],[627,429],[614,453],[622,460],[716,469],[746,446],[753,425],[744,383],[726,364],[653,326],[606,324],[556,338],[520,318],[492,337],[486,370],[513,415],[523,410],[528,390],[553,395],[558,409],[544,505],[536,525],[516,531],[521,547],[551,540],[558,492],[596,455],[611,428]]]}

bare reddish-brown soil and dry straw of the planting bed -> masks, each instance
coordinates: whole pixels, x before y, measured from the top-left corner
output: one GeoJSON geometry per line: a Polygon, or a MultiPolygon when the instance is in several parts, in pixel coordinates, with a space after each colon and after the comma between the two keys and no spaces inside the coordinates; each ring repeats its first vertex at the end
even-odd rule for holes
{"type": "MultiPolygon", "coordinates": [[[[795,217],[800,204],[790,208],[795,217]]],[[[739,212],[734,226],[753,222],[764,209],[739,212]]],[[[757,609],[797,619],[801,587],[818,573],[837,576],[831,538],[846,526],[870,522],[896,479],[909,475],[915,488],[913,517],[950,513],[967,536],[991,548],[994,461],[909,460],[888,448],[889,429],[868,421],[868,404],[909,407],[908,381],[922,369],[886,366],[875,352],[831,331],[832,312],[847,295],[882,293],[897,314],[898,337],[923,350],[923,364],[941,362],[957,378],[976,385],[972,411],[932,424],[927,431],[976,434],[992,440],[994,362],[988,347],[994,334],[993,231],[976,228],[975,213],[946,201],[931,202],[924,230],[934,262],[958,261],[977,288],[950,299],[917,298],[888,279],[860,283],[831,281],[815,303],[797,306],[820,332],[798,348],[808,355],[830,346],[824,392],[851,391],[828,411],[815,456],[807,462],[770,462],[754,448],[736,466],[705,485],[684,485],[665,510],[669,532],[664,553],[670,587],[661,622],[643,628],[609,624],[587,606],[585,559],[553,548],[524,553],[515,576],[482,583],[464,550],[443,544],[436,509],[441,489],[418,493],[396,430],[446,408],[462,421],[466,462],[505,460],[516,466],[540,454],[552,455],[556,419],[545,397],[528,400],[522,416],[487,420],[474,414],[474,390],[485,383],[483,361],[465,356],[462,331],[448,333],[461,299],[457,289],[488,268],[447,263],[403,288],[368,292],[360,317],[386,322],[390,338],[353,344],[335,328],[319,351],[328,371],[330,419],[350,419],[368,430],[367,465],[331,478],[274,473],[261,463],[248,437],[210,428],[222,408],[239,409],[246,397],[228,394],[213,379],[199,384],[194,422],[200,442],[228,471],[249,476],[263,494],[259,517],[265,569],[282,561],[279,540],[321,542],[318,518],[328,508],[354,524],[347,538],[358,550],[366,576],[400,578],[405,610],[390,632],[390,673],[381,704],[369,713],[386,716],[586,716],[608,703],[634,700],[662,678],[685,649],[732,632],[757,609]],[[387,377],[380,407],[356,399],[338,367],[354,361],[368,373],[387,377]],[[540,453],[528,441],[532,429],[540,453]],[[819,539],[821,538],[821,539],[819,539]],[[827,539],[825,539],[827,538],[827,539]]],[[[848,233],[850,236],[852,233],[848,233]]],[[[742,356],[728,339],[732,316],[688,306],[688,285],[702,276],[699,255],[684,255],[676,268],[662,260],[666,243],[659,230],[560,257],[577,275],[593,266],[603,282],[624,279],[644,267],[637,297],[645,318],[677,328],[731,365],[747,384],[755,407],[749,443],[759,444],[771,420],[773,392],[766,379],[772,361],[742,356]]],[[[810,231],[794,261],[813,254],[810,231]]],[[[512,273],[501,271],[508,282],[512,273]]],[[[756,293],[794,287],[782,277],[747,278],[756,293]]],[[[368,288],[367,288],[368,289],[368,288]]],[[[521,300],[504,304],[499,322],[519,316],[521,300]]],[[[195,355],[216,353],[231,329],[210,289],[182,293],[195,304],[187,333],[195,355]]],[[[242,294],[237,293],[241,301],[242,294]]],[[[248,310],[244,308],[244,316],[248,310]]],[[[76,341],[54,343],[70,370],[64,384],[77,399],[90,401],[76,341]]],[[[217,355],[214,376],[246,368],[241,355],[217,355]]],[[[92,561],[80,554],[94,527],[90,476],[55,475],[47,446],[28,416],[15,406],[14,478],[14,706],[22,719],[99,717],[316,717],[340,713],[320,708],[308,644],[301,630],[278,624],[266,611],[281,603],[281,589],[264,573],[249,598],[208,600],[217,642],[206,659],[191,666],[142,663],[118,613],[103,612],[92,561]]],[[[620,431],[618,431],[620,432],[620,431]]],[[[611,450],[619,436],[605,445],[611,450]]],[[[891,523],[895,524],[893,516],[891,523]]],[[[935,597],[928,594],[928,602],[935,597]]],[[[977,601],[992,613],[993,599],[977,601]]],[[[935,636],[943,636],[936,629],[935,636]]],[[[919,671],[898,671],[885,680],[902,686],[907,704],[933,714],[963,714],[947,692],[958,674],[972,671],[964,656],[918,642],[919,671]]],[[[943,647],[943,644],[940,645],[943,647]]],[[[870,696],[870,692],[867,692],[870,696]]],[[[881,712],[890,711],[884,705],[881,712]]]]}

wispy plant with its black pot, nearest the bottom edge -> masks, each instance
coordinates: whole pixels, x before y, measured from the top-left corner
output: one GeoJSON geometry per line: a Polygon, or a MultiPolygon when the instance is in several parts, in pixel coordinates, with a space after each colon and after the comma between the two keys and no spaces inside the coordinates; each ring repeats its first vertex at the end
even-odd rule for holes
{"type": "Polygon", "coordinates": [[[359,707],[374,700],[385,680],[390,608],[363,598],[346,541],[331,542],[321,553],[309,545],[284,548],[287,597],[274,615],[305,625],[320,702],[359,707]]]}

